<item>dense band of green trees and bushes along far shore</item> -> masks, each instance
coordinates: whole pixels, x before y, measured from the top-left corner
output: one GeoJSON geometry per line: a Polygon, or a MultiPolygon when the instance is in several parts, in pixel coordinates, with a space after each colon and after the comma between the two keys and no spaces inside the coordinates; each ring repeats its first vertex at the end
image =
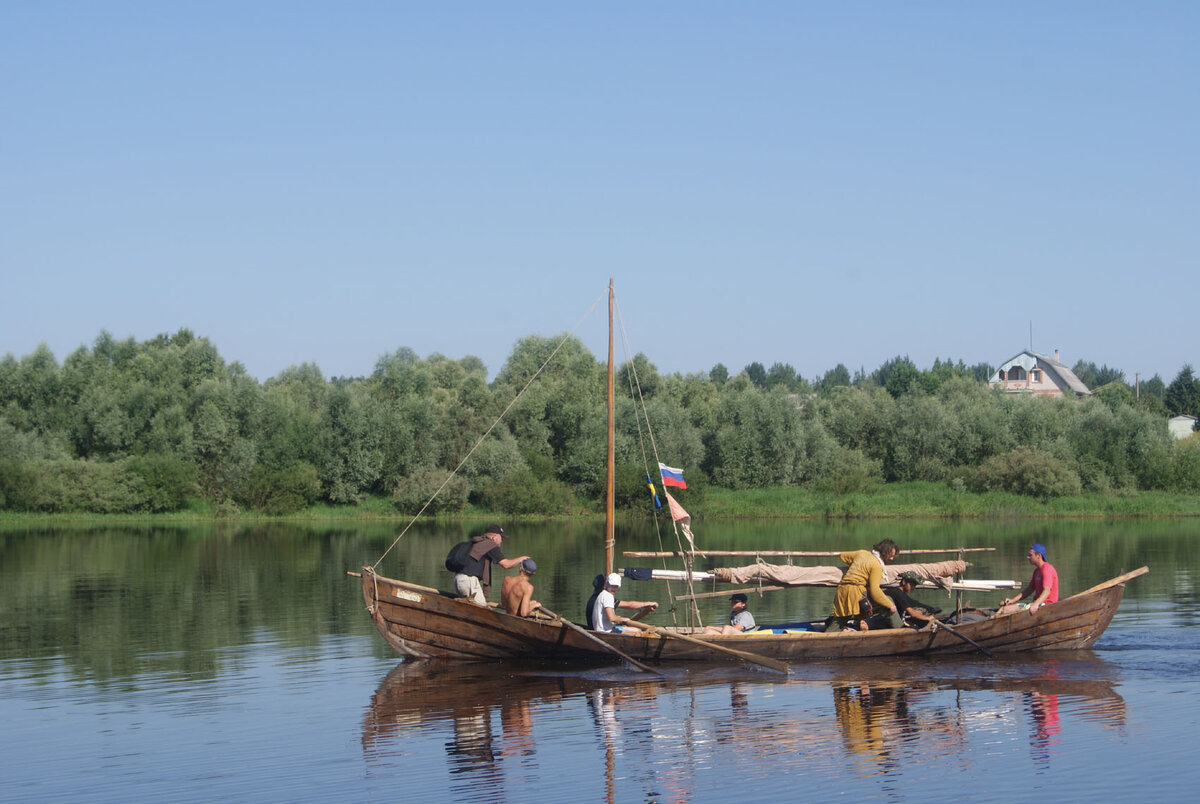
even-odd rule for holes
{"type": "MultiPolygon", "coordinates": [[[[1169,415],[1200,412],[1190,366],[1169,385],[1156,376],[1130,388],[1123,372],[1081,361],[1074,371],[1094,388],[1081,400],[994,391],[992,371],[896,356],[811,382],[757,362],[664,376],[637,354],[617,372],[636,391],[617,402],[617,504],[646,505],[658,460],[701,491],[910,480],[1043,498],[1200,491],[1200,439],[1166,431],[1169,415]]],[[[491,383],[478,358],[407,348],[367,377],[326,379],[302,364],[259,383],[186,329],[144,342],[102,332],[61,365],[44,346],[0,360],[0,510],[200,500],[284,514],[368,497],[408,514],[592,510],[605,486],[605,388],[606,366],[574,337],[518,341],[491,383]]]]}

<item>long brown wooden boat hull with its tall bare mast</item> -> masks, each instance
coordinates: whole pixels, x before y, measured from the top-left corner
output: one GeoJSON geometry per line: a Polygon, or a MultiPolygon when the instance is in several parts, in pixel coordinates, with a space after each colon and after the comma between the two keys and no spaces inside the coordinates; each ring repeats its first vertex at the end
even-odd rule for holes
{"type": "MultiPolygon", "coordinates": [[[[612,282],[608,284],[608,486],[606,572],[613,569],[613,360],[612,282]]],[[[376,628],[397,653],[413,659],[491,661],[498,659],[606,660],[622,655],[638,662],[737,660],[784,668],[786,662],[896,655],[1021,653],[1090,648],[1121,602],[1124,582],[1147,572],[1142,566],[1086,592],[1028,612],[1001,614],[934,630],[842,631],[824,634],[815,624],[763,628],[751,634],[704,635],[701,629],[658,626],[649,631],[584,632],[557,618],[512,617],[492,606],[456,599],[362,568],[362,600],[376,628]]],[[[358,574],[354,574],[358,575],[358,574]]]]}

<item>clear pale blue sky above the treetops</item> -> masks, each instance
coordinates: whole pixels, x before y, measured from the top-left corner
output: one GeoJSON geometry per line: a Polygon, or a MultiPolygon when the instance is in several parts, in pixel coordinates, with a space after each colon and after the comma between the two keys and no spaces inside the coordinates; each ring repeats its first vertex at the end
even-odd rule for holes
{"type": "Polygon", "coordinates": [[[1198,42],[1195,2],[5,2],[0,354],[494,376],[613,277],[664,373],[996,365],[1032,323],[1169,383],[1198,42]]]}

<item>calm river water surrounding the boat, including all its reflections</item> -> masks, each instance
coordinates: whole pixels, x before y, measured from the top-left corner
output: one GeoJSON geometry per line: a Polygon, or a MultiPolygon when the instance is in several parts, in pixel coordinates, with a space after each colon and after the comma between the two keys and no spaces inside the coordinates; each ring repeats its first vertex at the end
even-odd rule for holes
{"type": "MultiPolygon", "coordinates": [[[[990,546],[968,577],[1022,583],[1040,541],[1066,593],[1151,568],[1093,650],[817,662],[786,678],[401,661],[346,576],[388,551],[396,530],[379,526],[0,530],[0,800],[1193,800],[1196,524],[696,523],[714,550],[990,546]]],[[[508,530],[506,554],[541,568],[539,600],[580,619],[600,528],[508,530]]],[[[378,570],[446,587],[442,560],[464,533],[415,528],[378,570]]],[[[650,526],[618,539],[676,546],[650,526]]],[[[763,593],[751,608],[781,622],[823,616],[832,598],[763,593]]],[[[718,623],[727,602],[701,611],[718,623]]]]}

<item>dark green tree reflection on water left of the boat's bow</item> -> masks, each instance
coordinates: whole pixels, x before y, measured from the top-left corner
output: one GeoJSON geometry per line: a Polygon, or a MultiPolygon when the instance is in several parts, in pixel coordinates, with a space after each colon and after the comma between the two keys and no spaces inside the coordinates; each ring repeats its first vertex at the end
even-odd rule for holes
{"type": "MultiPolygon", "coordinates": [[[[54,658],[90,679],[212,677],[221,648],[316,646],[361,599],[346,569],[377,553],[361,532],[290,526],[54,529],[0,540],[0,659],[54,658]]],[[[444,550],[442,551],[444,552],[444,550]]]]}

